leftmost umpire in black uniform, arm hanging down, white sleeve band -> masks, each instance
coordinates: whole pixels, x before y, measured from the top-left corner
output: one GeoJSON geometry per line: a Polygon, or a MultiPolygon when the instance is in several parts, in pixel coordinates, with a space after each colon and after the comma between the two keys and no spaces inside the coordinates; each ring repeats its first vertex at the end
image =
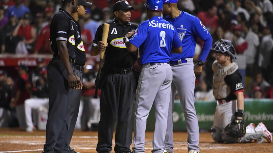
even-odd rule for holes
{"type": "Polygon", "coordinates": [[[62,0],[62,8],[50,25],[50,45],[54,55],[48,64],[49,111],[46,127],[45,153],[69,153],[68,120],[72,89],[79,89],[81,81],[75,75],[76,62],[73,19],[78,0],[62,0]]]}

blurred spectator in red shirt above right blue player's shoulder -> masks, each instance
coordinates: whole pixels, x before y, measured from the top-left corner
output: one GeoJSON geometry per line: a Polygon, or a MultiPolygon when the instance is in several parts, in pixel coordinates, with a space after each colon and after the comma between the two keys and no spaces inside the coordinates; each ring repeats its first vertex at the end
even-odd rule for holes
{"type": "Polygon", "coordinates": [[[217,16],[217,7],[215,5],[211,5],[206,12],[199,12],[197,14],[197,17],[206,26],[207,30],[211,33],[211,35],[213,35],[218,26],[219,20],[217,16]]]}

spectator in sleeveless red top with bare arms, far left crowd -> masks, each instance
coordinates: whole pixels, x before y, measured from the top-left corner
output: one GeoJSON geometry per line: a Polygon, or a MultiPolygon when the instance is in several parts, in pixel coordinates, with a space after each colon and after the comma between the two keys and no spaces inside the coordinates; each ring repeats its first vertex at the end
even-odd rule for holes
{"type": "Polygon", "coordinates": [[[23,18],[19,21],[19,24],[16,26],[12,32],[12,36],[17,36],[23,40],[25,43],[28,52],[33,51],[33,43],[36,40],[36,28],[30,25],[30,14],[26,13],[23,18]]]}

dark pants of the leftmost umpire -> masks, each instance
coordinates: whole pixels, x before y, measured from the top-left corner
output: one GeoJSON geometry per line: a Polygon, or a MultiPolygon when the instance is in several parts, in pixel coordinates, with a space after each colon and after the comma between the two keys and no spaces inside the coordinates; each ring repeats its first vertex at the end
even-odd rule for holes
{"type": "MultiPolygon", "coordinates": [[[[71,67],[73,69],[72,63],[71,67]]],[[[70,98],[73,90],[68,87],[67,72],[61,60],[52,59],[48,64],[48,89],[49,111],[43,152],[67,153],[70,98]]]]}

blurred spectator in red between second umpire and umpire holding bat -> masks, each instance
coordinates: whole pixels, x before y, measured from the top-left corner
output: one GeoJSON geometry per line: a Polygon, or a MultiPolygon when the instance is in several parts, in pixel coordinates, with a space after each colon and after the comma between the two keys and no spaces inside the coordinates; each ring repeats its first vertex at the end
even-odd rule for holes
{"type": "Polygon", "coordinates": [[[89,54],[90,46],[91,46],[94,38],[93,38],[91,32],[88,29],[84,28],[84,20],[80,19],[78,22],[79,22],[80,26],[82,27],[81,34],[82,34],[83,46],[85,48],[85,53],[89,54]]]}

